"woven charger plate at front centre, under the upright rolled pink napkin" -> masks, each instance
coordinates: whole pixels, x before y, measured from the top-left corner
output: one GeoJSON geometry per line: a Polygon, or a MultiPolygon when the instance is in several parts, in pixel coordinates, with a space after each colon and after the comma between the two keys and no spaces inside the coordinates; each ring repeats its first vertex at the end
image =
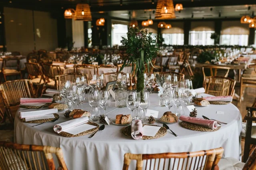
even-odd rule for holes
{"type": "MultiPolygon", "coordinates": [[[[145,124],[143,124],[143,126],[144,125],[145,124]]],[[[146,124],[146,125],[148,125],[148,124],[146,124]]],[[[157,126],[157,125],[149,125],[149,126],[157,126]]],[[[121,131],[124,135],[132,138],[131,126],[124,127],[123,129],[121,129],[121,131]]],[[[167,130],[164,127],[161,127],[154,137],[152,137],[152,136],[143,136],[142,139],[144,139],[144,140],[145,139],[157,139],[157,138],[163,137],[164,135],[166,135],[166,133],[167,133],[167,130]]]]}

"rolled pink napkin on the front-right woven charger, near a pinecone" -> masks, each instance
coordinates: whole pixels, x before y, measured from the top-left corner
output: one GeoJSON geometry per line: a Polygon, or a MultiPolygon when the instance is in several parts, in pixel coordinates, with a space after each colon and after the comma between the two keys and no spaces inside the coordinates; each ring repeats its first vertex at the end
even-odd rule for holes
{"type": "Polygon", "coordinates": [[[206,119],[200,119],[196,117],[188,117],[188,116],[180,116],[181,121],[186,121],[189,123],[194,123],[196,125],[208,127],[209,129],[216,129],[218,126],[217,121],[214,120],[206,120],[206,119]]]}

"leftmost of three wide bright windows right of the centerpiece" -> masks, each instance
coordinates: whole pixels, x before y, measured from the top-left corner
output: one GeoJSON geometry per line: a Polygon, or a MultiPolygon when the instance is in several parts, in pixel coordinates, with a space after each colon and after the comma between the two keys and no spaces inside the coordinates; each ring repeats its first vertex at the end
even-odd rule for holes
{"type": "Polygon", "coordinates": [[[163,33],[162,37],[166,45],[184,45],[183,33],[163,33]]]}

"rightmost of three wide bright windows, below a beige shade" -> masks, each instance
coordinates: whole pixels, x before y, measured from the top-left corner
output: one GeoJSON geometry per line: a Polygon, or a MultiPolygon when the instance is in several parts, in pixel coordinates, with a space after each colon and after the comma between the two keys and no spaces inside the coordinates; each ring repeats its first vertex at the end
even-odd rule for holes
{"type": "Polygon", "coordinates": [[[248,35],[221,35],[221,45],[248,45],[248,35]]]}

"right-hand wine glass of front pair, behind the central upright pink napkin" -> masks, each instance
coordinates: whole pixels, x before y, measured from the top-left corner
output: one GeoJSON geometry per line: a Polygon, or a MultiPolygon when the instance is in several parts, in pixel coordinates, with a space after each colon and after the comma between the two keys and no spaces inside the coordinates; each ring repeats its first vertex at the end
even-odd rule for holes
{"type": "Polygon", "coordinates": [[[150,106],[149,100],[149,92],[148,91],[141,91],[140,92],[140,103],[139,107],[143,110],[140,112],[139,119],[144,123],[146,121],[146,109],[150,106]]]}

